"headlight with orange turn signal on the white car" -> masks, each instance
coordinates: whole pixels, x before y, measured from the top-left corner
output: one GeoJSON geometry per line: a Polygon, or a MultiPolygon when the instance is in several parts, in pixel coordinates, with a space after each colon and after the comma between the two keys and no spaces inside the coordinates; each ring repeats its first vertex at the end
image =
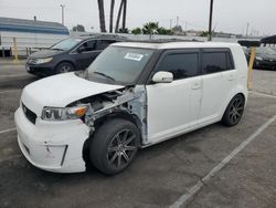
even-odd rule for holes
{"type": "Polygon", "coordinates": [[[87,108],[87,105],[76,107],[44,107],[41,118],[45,121],[76,119],[83,117],[87,108]]]}

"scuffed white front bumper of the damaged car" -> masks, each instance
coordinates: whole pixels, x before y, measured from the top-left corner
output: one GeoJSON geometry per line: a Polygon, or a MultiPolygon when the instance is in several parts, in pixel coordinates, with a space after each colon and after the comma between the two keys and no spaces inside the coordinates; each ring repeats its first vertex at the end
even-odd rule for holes
{"type": "Polygon", "coordinates": [[[34,125],[19,107],[14,121],[20,149],[32,165],[55,173],[85,171],[83,146],[89,128],[81,119],[45,122],[38,117],[34,125]]]}

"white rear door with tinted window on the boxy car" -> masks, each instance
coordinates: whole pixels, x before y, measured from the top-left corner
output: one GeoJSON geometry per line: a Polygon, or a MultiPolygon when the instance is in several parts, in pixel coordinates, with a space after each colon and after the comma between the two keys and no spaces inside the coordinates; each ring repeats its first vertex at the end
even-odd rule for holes
{"type": "Polygon", "coordinates": [[[229,49],[202,50],[202,106],[200,119],[217,119],[231,90],[236,84],[236,71],[229,49]]]}

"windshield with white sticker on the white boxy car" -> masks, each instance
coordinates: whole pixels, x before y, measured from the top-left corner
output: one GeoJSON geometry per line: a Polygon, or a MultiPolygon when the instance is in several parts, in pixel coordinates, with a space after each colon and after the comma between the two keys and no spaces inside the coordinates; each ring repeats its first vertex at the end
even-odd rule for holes
{"type": "Polygon", "coordinates": [[[117,83],[134,83],[155,50],[109,46],[89,65],[88,75],[117,83]]]}

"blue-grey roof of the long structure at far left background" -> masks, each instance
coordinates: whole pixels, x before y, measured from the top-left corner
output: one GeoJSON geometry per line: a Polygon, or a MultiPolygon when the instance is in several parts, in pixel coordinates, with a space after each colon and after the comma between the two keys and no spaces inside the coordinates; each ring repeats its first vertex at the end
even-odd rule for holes
{"type": "Polygon", "coordinates": [[[68,34],[68,29],[57,22],[24,20],[0,17],[0,31],[68,34]]]}

